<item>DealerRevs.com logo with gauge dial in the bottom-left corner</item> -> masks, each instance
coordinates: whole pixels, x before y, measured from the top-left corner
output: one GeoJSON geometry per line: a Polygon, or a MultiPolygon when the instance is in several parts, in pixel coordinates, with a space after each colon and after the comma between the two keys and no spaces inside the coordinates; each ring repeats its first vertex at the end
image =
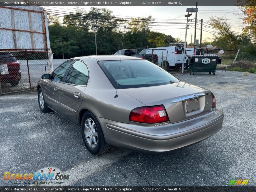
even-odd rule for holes
{"type": "Polygon", "coordinates": [[[4,172],[3,179],[10,181],[11,184],[60,184],[69,179],[69,175],[62,174],[56,167],[45,167],[34,173],[10,173],[4,172]]]}

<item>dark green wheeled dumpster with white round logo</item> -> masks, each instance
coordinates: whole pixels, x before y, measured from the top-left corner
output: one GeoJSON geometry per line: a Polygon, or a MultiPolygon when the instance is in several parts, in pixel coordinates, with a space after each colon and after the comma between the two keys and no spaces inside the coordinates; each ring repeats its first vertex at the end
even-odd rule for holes
{"type": "Polygon", "coordinates": [[[215,75],[217,64],[221,63],[221,58],[215,54],[210,55],[187,55],[189,64],[189,74],[196,72],[209,72],[215,75]]]}

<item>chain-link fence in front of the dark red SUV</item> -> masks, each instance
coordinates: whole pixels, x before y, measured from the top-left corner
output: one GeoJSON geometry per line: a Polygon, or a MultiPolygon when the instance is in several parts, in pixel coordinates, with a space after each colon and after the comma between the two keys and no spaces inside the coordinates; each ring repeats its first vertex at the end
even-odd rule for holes
{"type": "Polygon", "coordinates": [[[0,50],[0,69],[0,94],[35,89],[53,71],[50,49],[0,50]]]}

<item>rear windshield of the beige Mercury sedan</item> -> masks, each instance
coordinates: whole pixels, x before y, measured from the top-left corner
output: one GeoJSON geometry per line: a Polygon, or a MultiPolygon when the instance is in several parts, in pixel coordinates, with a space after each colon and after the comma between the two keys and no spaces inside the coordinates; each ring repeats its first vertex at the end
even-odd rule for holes
{"type": "Polygon", "coordinates": [[[161,67],[146,60],[99,61],[112,85],[118,89],[167,85],[179,82],[161,67]],[[120,68],[119,68],[120,66],[120,68]]]}

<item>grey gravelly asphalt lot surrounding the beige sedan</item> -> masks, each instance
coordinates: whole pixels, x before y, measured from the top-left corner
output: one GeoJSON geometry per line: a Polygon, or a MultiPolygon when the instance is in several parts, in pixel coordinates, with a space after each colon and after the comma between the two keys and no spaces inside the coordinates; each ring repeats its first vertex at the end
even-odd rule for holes
{"type": "Polygon", "coordinates": [[[230,179],[256,186],[256,75],[170,73],[214,93],[225,115],[222,130],[165,155],[112,147],[95,156],[78,128],[39,110],[37,93],[0,96],[0,186],[14,186],[3,179],[5,171],[34,173],[49,166],[70,175],[62,186],[227,186],[230,179]]]}

